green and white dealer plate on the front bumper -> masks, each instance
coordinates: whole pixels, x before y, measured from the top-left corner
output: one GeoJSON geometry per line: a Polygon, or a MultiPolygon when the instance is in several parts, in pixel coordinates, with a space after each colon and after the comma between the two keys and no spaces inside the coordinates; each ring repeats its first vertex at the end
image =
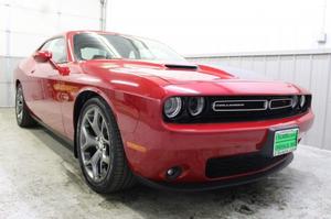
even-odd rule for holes
{"type": "Polygon", "coordinates": [[[287,129],[275,132],[274,156],[292,152],[297,149],[299,129],[287,129]]]}

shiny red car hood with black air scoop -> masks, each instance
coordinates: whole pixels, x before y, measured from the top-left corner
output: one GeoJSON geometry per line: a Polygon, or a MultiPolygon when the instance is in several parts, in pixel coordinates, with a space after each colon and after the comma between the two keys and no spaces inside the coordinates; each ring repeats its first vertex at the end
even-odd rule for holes
{"type": "MultiPolygon", "coordinates": [[[[140,61],[93,61],[85,65],[95,72],[135,75],[157,79],[170,94],[228,94],[228,95],[275,95],[300,94],[301,88],[282,81],[274,81],[254,74],[191,63],[154,63],[140,61]],[[92,67],[93,66],[93,67],[92,67]],[[231,72],[231,73],[228,73],[231,72]],[[247,77],[248,76],[248,77],[247,77]]],[[[128,79],[128,77],[126,77],[128,79]]]]}

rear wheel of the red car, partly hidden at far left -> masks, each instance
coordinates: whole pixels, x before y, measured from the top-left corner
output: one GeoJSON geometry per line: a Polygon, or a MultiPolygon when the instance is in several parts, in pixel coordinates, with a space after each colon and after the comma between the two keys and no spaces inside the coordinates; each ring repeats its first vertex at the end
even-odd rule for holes
{"type": "Polygon", "coordinates": [[[30,111],[26,107],[21,84],[17,86],[15,116],[18,124],[22,128],[31,128],[35,127],[36,124],[35,120],[31,117],[30,111]]]}

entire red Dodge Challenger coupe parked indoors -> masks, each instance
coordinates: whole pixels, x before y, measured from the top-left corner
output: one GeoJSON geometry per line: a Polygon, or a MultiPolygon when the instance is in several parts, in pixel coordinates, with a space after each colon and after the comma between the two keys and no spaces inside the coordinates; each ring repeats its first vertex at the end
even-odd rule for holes
{"type": "Polygon", "coordinates": [[[296,85],[239,78],[117,33],[54,36],[14,79],[18,124],[71,143],[97,193],[137,180],[180,190],[254,182],[291,162],[313,121],[311,95],[296,85]]]}

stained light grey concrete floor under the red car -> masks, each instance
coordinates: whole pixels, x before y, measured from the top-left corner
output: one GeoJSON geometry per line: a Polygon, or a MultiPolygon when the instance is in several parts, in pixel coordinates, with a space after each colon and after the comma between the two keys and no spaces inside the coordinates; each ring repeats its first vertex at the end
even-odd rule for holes
{"type": "Polygon", "coordinates": [[[331,218],[331,152],[300,145],[289,167],[250,185],[203,193],[136,186],[102,196],[71,149],[0,109],[0,218],[331,218]]]}

